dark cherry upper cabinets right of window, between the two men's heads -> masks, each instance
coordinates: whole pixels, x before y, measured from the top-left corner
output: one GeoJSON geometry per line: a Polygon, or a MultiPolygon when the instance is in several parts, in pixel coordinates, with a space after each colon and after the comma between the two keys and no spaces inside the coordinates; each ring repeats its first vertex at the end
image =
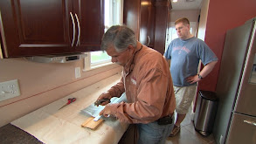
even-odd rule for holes
{"type": "Polygon", "coordinates": [[[163,54],[170,23],[170,0],[124,1],[124,24],[142,43],[163,54]]]}

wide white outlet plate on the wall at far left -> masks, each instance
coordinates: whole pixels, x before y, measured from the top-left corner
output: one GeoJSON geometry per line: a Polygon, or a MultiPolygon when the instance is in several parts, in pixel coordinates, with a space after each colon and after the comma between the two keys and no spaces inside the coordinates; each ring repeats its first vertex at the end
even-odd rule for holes
{"type": "Polygon", "coordinates": [[[0,83],[0,101],[20,95],[17,79],[0,83]]]}

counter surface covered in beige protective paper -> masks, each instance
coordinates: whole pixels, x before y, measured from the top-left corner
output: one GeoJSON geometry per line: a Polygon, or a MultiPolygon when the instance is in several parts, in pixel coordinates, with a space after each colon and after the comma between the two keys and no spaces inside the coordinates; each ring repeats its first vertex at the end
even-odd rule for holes
{"type": "Polygon", "coordinates": [[[103,79],[14,120],[11,124],[47,144],[118,143],[122,134],[127,130],[128,124],[118,120],[105,120],[97,129],[91,130],[81,127],[81,124],[89,117],[80,111],[93,104],[100,93],[106,92],[120,79],[120,74],[103,79]],[[59,110],[59,107],[66,104],[68,98],[76,98],[76,101],[59,110]]]}

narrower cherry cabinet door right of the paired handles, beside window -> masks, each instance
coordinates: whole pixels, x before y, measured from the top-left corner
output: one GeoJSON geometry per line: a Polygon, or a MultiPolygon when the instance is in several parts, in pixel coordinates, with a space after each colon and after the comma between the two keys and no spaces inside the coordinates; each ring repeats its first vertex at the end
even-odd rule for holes
{"type": "Polygon", "coordinates": [[[78,15],[76,51],[100,51],[104,34],[104,1],[75,0],[73,5],[73,13],[78,15]]]}

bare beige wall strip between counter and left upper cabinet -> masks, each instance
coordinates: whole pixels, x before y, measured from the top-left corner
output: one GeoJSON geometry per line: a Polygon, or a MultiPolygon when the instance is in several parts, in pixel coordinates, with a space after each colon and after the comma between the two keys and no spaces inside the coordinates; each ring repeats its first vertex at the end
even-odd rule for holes
{"type": "Polygon", "coordinates": [[[18,80],[20,96],[0,101],[0,127],[52,101],[121,72],[120,65],[106,65],[82,72],[83,60],[71,63],[35,63],[24,58],[0,59],[0,82],[18,80]],[[75,78],[80,67],[81,77],[75,78]]]}

